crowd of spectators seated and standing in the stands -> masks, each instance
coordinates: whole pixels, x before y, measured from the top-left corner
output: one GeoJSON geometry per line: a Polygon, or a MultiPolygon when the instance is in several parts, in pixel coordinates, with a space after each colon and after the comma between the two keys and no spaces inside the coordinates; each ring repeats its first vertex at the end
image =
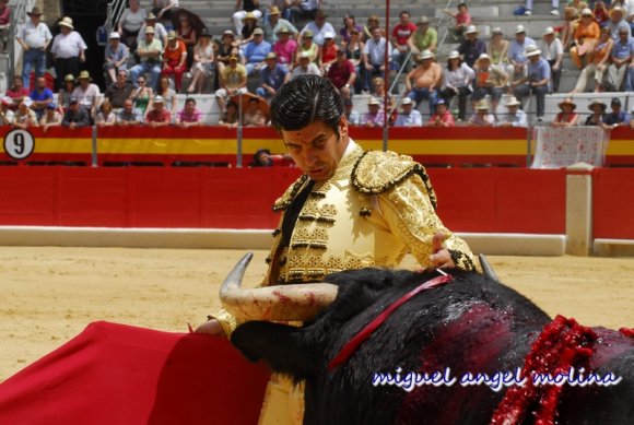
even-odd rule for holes
{"type": "MultiPolygon", "coordinates": [[[[524,101],[535,97],[536,118],[543,121],[544,98],[559,91],[565,52],[582,70],[571,94],[634,90],[634,0],[609,5],[596,1],[592,10],[574,0],[564,9],[562,25],[548,27],[538,40],[518,25],[512,39],[494,28],[488,42],[472,24],[469,7],[459,3],[457,10],[446,11],[454,20],[450,36],[459,42],[446,62],[437,57],[438,32],[431,20],[412,19],[408,11],[399,13],[398,24],[386,34],[377,15],[359,23],[345,14],[336,28],[319,0],[271,1],[267,7],[238,0],[235,13],[227,16],[235,32],[227,29],[215,38],[177,0],[141,3],[129,0],[116,31],[108,34],[102,87],[82,70],[87,47],[72,19],[61,17],[56,24],[59,34],[52,37],[42,12],[33,8],[16,32],[23,71],[2,98],[3,110],[13,113],[11,118],[3,114],[3,122],[190,127],[211,119],[189,95],[215,94],[220,125],[237,127],[242,117],[245,126],[260,126],[267,122],[261,99],[270,101],[297,75],[320,74],[340,91],[353,126],[380,127],[386,117],[396,127],[527,126],[524,101]],[[46,87],[47,51],[52,56],[57,104],[46,87]],[[387,72],[392,80],[401,67],[406,92],[390,93],[386,113],[384,97],[391,81],[384,76],[387,72]],[[187,99],[177,110],[180,93],[187,99]],[[355,94],[371,95],[366,114],[352,109],[355,94]],[[428,108],[421,114],[423,102],[428,108]]],[[[559,2],[552,5],[552,14],[559,15],[559,2]]],[[[531,9],[528,0],[525,13],[531,9]]],[[[0,0],[0,49],[5,48],[9,15],[7,1],[0,0]]],[[[582,123],[567,117],[554,125],[582,123]]]]}

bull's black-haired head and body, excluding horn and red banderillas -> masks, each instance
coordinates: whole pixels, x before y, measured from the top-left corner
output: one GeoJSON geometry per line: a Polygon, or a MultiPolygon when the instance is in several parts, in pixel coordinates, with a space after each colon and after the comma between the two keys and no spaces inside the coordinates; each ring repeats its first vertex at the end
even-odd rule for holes
{"type": "MultiPolygon", "coordinates": [[[[529,299],[477,273],[455,271],[454,281],[396,309],[371,338],[333,370],[329,362],[386,306],[434,275],[366,269],[326,279],[339,286],[336,300],[302,328],[250,321],[232,342],[251,361],[305,380],[305,424],[486,424],[507,388],[485,385],[434,387],[407,392],[373,386],[375,373],[515,371],[550,318],[529,299]]],[[[634,339],[604,328],[590,366],[612,373],[613,386],[565,385],[560,424],[634,424],[634,339]]],[[[529,406],[528,412],[536,406],[529,406]]],[[[532,423],[530,415],[521,423],[532,423]]]]}

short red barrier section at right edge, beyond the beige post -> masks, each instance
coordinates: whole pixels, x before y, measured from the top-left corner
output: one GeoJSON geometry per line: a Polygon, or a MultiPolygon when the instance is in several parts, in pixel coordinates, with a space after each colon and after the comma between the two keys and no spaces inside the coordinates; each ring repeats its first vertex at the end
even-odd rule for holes
{"type": "Polygon", "coordinates": [[[634,169],[594,170],[592,213],[596,238],[634,239],[634,169]]]}

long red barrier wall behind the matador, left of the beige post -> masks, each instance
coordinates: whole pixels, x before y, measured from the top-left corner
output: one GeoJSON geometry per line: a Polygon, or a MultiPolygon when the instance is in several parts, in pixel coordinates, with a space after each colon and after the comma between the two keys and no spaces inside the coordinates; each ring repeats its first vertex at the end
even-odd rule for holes
{"type": "MultiPolygon", "coordinates": [[[[430,174],[454,231],[565,231],[563,172],[430,174]]],[[[271,205],[298,175],[286,167],[0,167],[0,225],[273,228],[271,205]]]]}

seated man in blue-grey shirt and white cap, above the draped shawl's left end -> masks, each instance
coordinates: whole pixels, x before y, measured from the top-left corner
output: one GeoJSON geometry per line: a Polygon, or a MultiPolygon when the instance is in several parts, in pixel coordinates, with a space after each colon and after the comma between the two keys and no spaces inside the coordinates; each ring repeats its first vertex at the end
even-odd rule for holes
{"type": "Polygon", "coordinates": [[[541,56],[535,45],[526,47],[526,58],[528,59],[527,75],[510,84],[514,88],[515,97],[521,102],[526,96],[535,94],[537,99],[537,120],[543,121],[544,101],[547,93],[550,93],[551,73],[550,64],[541,56]]]}

